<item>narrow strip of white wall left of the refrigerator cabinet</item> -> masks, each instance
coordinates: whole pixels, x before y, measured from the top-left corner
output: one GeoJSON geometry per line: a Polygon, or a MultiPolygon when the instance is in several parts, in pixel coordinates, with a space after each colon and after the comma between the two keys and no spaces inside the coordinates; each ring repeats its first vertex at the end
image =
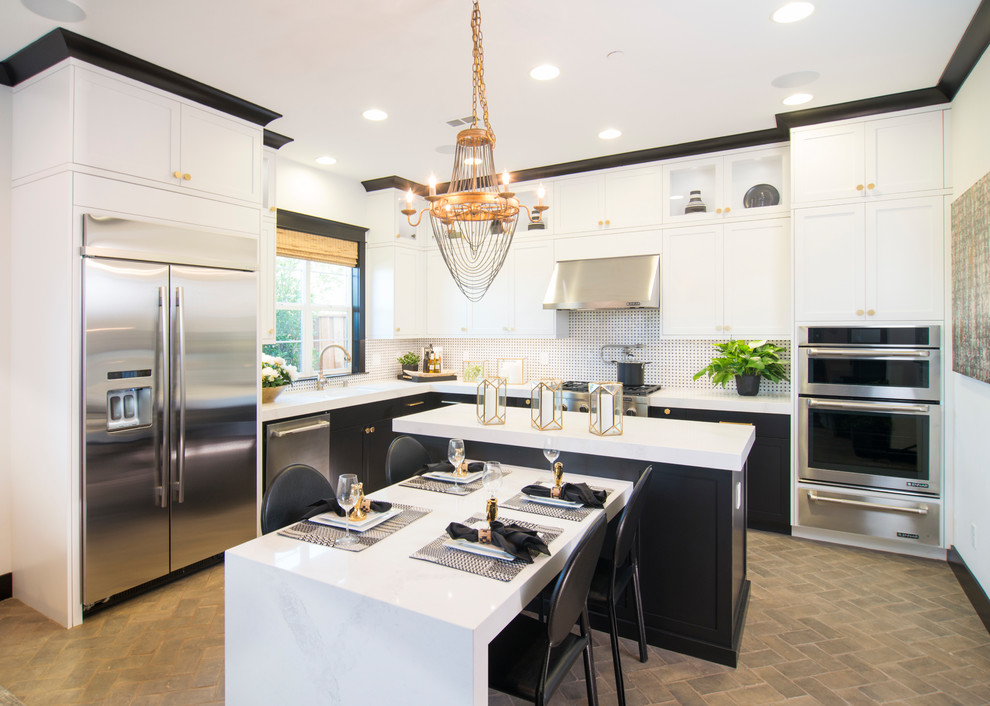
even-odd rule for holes
{"type": "Polygon", "coordinates": [[[11,89],[0,86],[0,575],[10,573],[11,89]]]}

